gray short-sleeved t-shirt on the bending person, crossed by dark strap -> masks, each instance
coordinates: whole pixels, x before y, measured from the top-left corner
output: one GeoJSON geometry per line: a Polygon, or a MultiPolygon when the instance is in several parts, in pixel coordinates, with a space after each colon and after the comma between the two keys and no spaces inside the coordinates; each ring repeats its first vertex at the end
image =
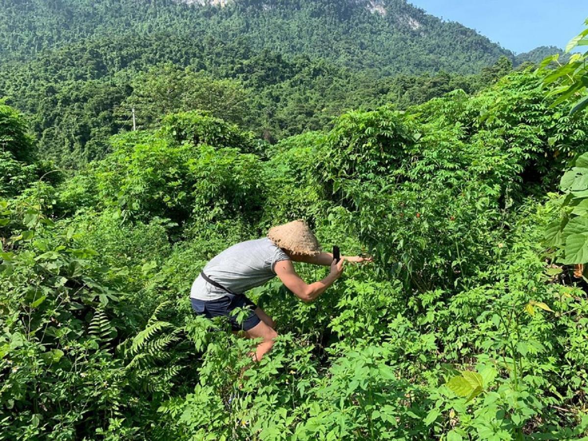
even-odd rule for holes
{"type": "MultiPolygon", "coordinates": [[[[202,270],[216,283],[242,294],[274,278],[276,262],[289,259],[272,240],[261,238],[230,246],[206,263],[202,270]]],[[[192,283],[190,292],[191,298],[199,300],[216,300],[225,295],[226,291],[206,282],[201,275],[192,283]]]]}

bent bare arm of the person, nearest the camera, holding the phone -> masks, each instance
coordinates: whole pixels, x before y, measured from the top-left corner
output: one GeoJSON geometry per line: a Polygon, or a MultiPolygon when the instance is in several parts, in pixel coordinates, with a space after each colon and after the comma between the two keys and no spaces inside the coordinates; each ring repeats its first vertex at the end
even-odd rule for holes
{"type": "Polygon", "coordinates": [[[343,259],[339,260],[339,263],[336,263],[334,259],[331,259],[331,262],[329,275],[318,282],[310,284],[302,280],[298,273],[296,273],[291,260],[281,260],[276,263],[274,269],[276,275],[282,280],[282,283],[286,288],[292,291],[296,297],[303,302],[312,302],[312,300],[325,292],[325,290],[329,288],[329,286],[331,286],[343,272],[343,262],[345,262],[343,259]]]}

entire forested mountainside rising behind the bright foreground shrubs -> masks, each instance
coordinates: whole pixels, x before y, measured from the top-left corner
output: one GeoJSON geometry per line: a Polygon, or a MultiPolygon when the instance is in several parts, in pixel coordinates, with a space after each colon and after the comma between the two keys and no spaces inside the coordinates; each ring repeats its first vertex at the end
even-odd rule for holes
{"type": "Polygon", "coordinates": [[[377,1],[228,3],[2,1],[0,98],[28,116],[42,158],[79,169],[132,129],[133,108],[139,128],[198,108],[274,143],[540,60],[402,0],[384,15],[377,1]]]}

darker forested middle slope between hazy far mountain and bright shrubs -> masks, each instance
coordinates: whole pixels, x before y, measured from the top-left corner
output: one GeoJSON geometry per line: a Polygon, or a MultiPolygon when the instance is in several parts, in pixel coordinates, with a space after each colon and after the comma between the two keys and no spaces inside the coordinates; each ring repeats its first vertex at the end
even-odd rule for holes
{"type": "Polygon", "coordinates": [[[198,108],[276,142],[322,129],[349,109],[405,109],[454,89],[473,93],[512,70],[502,58],[476,75],[383,77],[242,45],[111,36],[0,66],[0,96],[29,115],[43,158],[79,169],[109,152],[110,136],[132,130],[133,109],[138,128],[198,108]]]}

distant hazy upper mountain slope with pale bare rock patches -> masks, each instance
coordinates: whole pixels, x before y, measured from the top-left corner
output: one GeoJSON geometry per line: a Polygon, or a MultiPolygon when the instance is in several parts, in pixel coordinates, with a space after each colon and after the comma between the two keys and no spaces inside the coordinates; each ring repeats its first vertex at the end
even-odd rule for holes
{"type": "Polygon", "coordinates": [[[512,52],[405,0],[2,0],[0,59],[105,36],[239,39],[253,51],[305,54],[384,75],[444,70],[473,74],[512,52]],[[220,6],[223,4],[224,6],[220,6]]]}

